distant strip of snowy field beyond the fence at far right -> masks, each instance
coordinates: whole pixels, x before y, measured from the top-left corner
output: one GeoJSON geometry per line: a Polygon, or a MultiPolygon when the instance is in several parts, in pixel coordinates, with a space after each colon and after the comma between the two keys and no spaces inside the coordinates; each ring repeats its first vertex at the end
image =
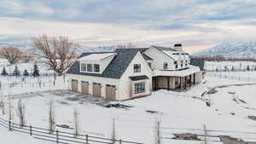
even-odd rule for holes
{"type": "Polygon", "coordinates": [[[228,70],[231,70],[232,67],[234,70],[246,70],[247,66],[250,67],[251,70],[255,70],[256,62],[253,61],[206,61],[205,69],[207,71],[216,71],[224,70],[225,66],[228,70]]]}

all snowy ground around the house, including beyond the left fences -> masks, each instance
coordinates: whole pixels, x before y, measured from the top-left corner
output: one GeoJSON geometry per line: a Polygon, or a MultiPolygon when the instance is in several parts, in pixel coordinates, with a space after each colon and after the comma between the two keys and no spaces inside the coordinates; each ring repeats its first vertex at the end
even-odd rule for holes
{"type": "MultiPolygon", "coordinates": [[[[236,76],[255,76],[255,72],[230,73],[236,76]]],[[[92,101],[88,95],[68,91],[67,80],[63,77],[56,77],[55,84],[52,76],[39,79],[45,82],[44,87],[39,87],[38,78],[28,77],[25,83],[22,77],[1,77],[2,84],[4,82],[16,85],[0,89],[0,95],[5,95],[6,103],[5,115],[0,112],[0,117],[9,118],[10,103],[13,122],[19,123],[16,112],[17,101],[21,99],[26,106],[26,124],[48,129],[49,102],[54,101],[56,124],[66,124],[73,128],[73,111],[76,109],[79,112],[79,133],[84,135],[111,138],[114,118],[117,139],[154,144],[155,121],[160,118],[161,136],[165,144],[201,144],[203,141],[171,139],[174,134],[202,135],[204,124],[207,130],[211,130],[208,135],[230,135],[244,141],[256,141],[256,121],[252,119],[252,116],[256,118],[256,84],[253,82],[206,77],[204,83],[186,92],[159,90],[148,97],[119,102],[129,106],[128,108],[108,108],[96,105],[97,102],[92,101]]],[[[73,130],[61,127],[56,127],[56,130],[73,133],[73,130]]],[[[15,143],[16,140],[24,141],[24,144],[48,142],[38,141],[17,132],[9,133],[2,127],[0,132],[0,137],[2,138],[3,134],[4,141],[8,141],[6,143],[15,143]],[[15,140],[9,141],[11,136],[14,136],[15,140]]],[[[222,143],[218,142],[218,138],[209,137],[208,141],[211,144],[222,143]]]]}

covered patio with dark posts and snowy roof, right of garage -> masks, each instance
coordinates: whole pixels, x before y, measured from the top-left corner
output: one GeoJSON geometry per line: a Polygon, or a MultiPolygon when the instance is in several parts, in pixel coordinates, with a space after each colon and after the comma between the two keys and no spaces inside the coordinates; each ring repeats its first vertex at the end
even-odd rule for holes
{"type": "Polygon", "coordinates": [[[153,91],[158,89],[187,90],[201,83],[201,70],[197,66],[189,66],[180,71],[154,71],[152,78],[153,91]]]}

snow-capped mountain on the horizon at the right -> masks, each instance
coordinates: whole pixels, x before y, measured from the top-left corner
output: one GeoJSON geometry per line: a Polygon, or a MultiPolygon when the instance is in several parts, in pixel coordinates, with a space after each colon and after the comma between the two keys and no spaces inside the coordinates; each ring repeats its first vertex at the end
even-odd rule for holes
{"type": "Polygon", "coordinates": [[[226,58],[256,58],[256,41],[253,42],[224,42],[210,49],[204,49],[194,54],[195,56],[222,55],[226,58]]]}

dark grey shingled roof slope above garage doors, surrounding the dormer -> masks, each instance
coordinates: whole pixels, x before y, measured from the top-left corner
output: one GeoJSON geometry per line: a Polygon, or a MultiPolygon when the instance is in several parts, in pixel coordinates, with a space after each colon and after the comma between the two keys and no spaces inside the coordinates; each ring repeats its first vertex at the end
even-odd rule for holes
{"type": "MultiPolygon", "coordinates": [[[[131,60],[137,55],[137,52],[143,52],[146,49],[116,49],[114,52],[117,55],[114,56],[113,60],[108,64],[107,68],[101,74],[90,73],[90,72],[80,72],[79,61],[74,62],[67,73],[68,74],[77,74],[85,76],[95,76],[102,78],[121,78],[126,68],[131,63],[131,60]]],[[[108,52],[109,53],[109,52],[108,52]]],[[[113,53],[113,52],[112,52],[113,53]]],[[[84,57],[90,54],[102,54],[102,53],[83,53],[79,58],[84,57]]]]}

